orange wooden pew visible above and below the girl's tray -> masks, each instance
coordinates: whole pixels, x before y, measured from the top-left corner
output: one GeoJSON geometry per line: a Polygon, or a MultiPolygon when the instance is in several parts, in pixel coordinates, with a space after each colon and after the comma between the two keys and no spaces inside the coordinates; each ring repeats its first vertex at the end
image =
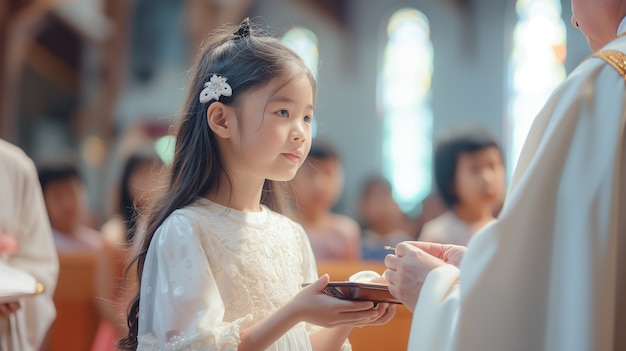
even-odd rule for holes
{"type": "MultiPolygon", "coordinates": [[[[377,261],[318,261],[319,275],[328,273],[331,281],[344,281],[359,271],[372,270],[379,274],[385,271],[385,265],[377,261]]],[[[354,351],[368,350],[406,350],[413,315],[406,307],[397,306],[396,316],[382,326],[354,328],[349,339],[354,351]]]]}

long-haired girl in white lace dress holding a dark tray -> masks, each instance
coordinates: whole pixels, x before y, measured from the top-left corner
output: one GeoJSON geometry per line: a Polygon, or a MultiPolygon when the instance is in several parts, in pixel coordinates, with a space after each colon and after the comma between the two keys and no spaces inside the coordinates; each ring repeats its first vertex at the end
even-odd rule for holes
{"type": "Polygon", "coordinates": [[[316,280],[304,230],[274,212],[279,182],[293,178],[310,148],[311,73],[248,20],[214,33],[192,72],[120,347],[349,349],[351,327],[386,323],[395,309],[323,294],[329,278],[316,280]]]}

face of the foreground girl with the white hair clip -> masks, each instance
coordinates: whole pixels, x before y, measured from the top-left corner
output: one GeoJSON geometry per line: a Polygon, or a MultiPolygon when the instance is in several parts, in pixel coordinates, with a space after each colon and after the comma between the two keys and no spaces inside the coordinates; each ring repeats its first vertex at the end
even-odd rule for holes
{"type": "Polygon", "coordinates": [[[224,159],[233,175],[287,181],[311,149],[313,86],[307,76],[278,82],[243,97],[230,139],[233,155],[224,159]]]}

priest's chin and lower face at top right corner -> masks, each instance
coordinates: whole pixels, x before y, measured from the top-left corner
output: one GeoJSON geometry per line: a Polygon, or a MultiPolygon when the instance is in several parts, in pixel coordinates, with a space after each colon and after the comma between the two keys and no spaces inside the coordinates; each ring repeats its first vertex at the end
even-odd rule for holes
{"type": "Polygon", "coordinates": [[[598,51],[615,39],[624,4],[618,0],[572,0],[572,24],[587,37],[589,46],[598,51]]]}

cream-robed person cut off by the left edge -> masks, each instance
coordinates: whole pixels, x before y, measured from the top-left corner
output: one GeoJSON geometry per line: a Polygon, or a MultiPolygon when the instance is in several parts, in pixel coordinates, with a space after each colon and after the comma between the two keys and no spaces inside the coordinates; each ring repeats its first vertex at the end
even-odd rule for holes
{"type": "Polygon", "coordinates": [[[3,263],[44,286],[40,295],[0,304],[0,350],[39,350],[56,316],[52,294],[59,262],[35,165],[21,149],[1,139],[0,184],[0,247],[7,250],[3,263]]]}

